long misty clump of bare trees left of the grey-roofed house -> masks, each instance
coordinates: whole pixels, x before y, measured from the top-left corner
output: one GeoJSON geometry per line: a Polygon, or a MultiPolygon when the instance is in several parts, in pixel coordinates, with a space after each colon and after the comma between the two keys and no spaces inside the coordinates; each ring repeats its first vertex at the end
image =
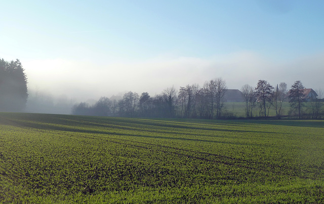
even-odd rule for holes
{"type": "Polygon", "coordinates": [[[75,115],[98,115],[119,117],[153,118],[220,118],[224,110],[226,82],[215,78],[198,84],[186,85],[176,90],[168,87],[160,94],[150,96],[143,92],[139,95],[129,91],[120,100],[101,97],[96,104],[76,104],[72,108],[75,115]]]}

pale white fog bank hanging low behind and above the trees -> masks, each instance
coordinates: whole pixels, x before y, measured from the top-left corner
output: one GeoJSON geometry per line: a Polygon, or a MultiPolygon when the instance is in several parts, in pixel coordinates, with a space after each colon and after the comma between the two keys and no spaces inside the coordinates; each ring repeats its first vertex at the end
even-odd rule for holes
{"type": "MultiPolygon", "coordinates": [[[[27,66],[33,63],[28,62],[27,66]]],[[[48,64],[48,69],[55,69],[57,76],[50,72],[33,73],[26,70],[28,89],[39,89],[55,97],[64,94],[77,101],[96,100],[101,96],[122,96],[128,91],[155,95],[173,85],[176,89],[195,83],[202,86],[215,77],[222,77],[230,89],[240,89],[244,84],[255,87],[259,79],[267,80],[273,86],[286,82],[288,88],[294,81],[301,80],[306,88],[320,89],[323,87],[320,76],[324,75],[324,53],[290,62],[274,62],[248,52],[211,59],[162,58],[145,63],[95,65],[91,70],[87,70],[90,64],[77,63],[71,66],[68,60],[44,61],[41,64],[48,64]],[[80,69],[82,72],[79,72],[80,69]],[[316,76],[310,73],[316,73],[316,76]],[[57,81],[57,78],[60,80],[57,81]]]]}

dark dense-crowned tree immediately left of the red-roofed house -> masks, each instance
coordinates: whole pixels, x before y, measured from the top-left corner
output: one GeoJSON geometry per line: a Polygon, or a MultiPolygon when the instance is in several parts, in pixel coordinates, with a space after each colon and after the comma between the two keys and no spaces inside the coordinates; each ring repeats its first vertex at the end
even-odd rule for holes
{"type": "Polygon", "coordinates": [[[289,90],[289,103],[290,103],[290,112],[298,111],[298,118],[301,118],[301,111],[302,108],[305,106],[303,104],[303,99],[305,97],[304,95],[304,89],[301,81],[295,81],[295,83],[292,85],[292,88],[289,90]]]}

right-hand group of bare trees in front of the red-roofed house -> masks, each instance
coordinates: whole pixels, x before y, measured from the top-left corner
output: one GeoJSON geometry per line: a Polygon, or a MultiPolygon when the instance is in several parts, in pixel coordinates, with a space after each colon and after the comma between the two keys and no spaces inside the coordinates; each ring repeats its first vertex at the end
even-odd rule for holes
{"type": "Polygon", "coordinates": [[[276,87],[270,85],[266,80],[259,80],[254,88],[248,84],[242,86],[246,104],[246,117],[252,118],[253,110],[259,110],[259,117],[268,117],[269,110],[275,110],[275,116],[280,118],[282,104],[288,101],[290,109],[289,117],[320,119],[324,117],[324,101],[321,99],[321,90],[318,95],[307,98],[305,87],[297,80],[287,92],[287,84],[281,82],[276,87]]]}

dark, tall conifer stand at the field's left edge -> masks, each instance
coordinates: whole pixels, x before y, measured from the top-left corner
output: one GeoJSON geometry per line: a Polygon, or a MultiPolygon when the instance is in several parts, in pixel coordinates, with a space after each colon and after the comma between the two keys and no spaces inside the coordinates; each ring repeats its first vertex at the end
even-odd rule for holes
{"type": "Polygon", "coordinates": [[[0,59],[0,111],[21,112],[28,98],[27,75],[20,61],[0,59]]]}

